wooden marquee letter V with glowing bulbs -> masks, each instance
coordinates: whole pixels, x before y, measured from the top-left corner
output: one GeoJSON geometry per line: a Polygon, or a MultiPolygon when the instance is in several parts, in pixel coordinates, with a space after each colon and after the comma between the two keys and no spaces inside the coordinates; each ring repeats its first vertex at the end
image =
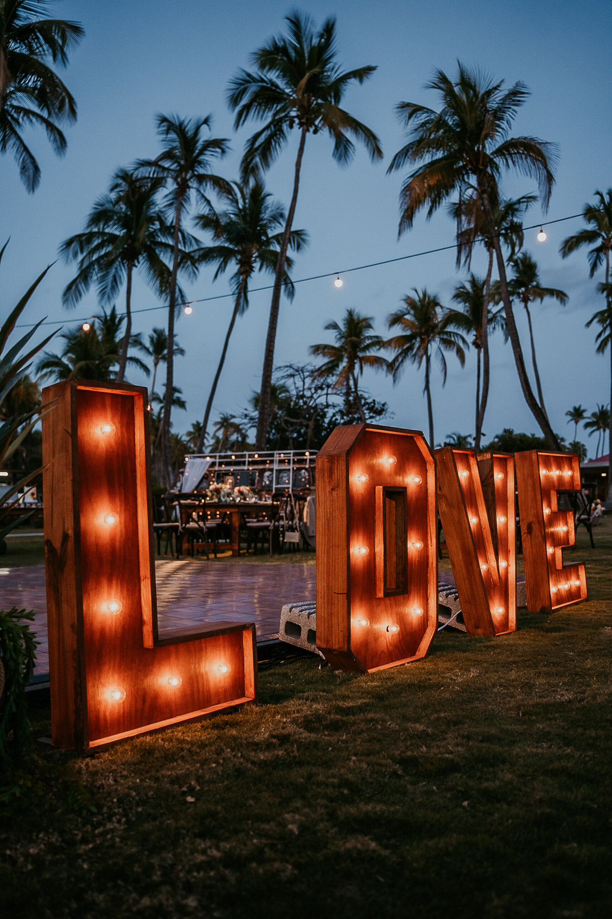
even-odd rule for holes
{"type": "Polygon", "coordinates": [[[436,450],[438,509],[470,635],[517,629],[513,457],[436,450]]]}

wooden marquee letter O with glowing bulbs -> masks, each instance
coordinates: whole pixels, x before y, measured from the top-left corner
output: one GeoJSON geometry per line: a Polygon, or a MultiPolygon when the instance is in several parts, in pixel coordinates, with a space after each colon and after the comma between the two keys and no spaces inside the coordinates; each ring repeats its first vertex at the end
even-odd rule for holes
{"type": "Polygon", "coordinates": [[[317,454],[317,648],[345,670],[428,652],[438,623],[436,471],[419,431],[343,425],[317,454]]]}

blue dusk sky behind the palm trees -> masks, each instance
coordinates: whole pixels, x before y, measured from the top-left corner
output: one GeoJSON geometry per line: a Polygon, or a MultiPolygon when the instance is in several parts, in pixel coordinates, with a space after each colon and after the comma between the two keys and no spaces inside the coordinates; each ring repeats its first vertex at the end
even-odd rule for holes
{"type": "MultiPolygon", "coordinates": [[[[61,159],[41,133],[28,135],[42,168],[34,195],[21,185],[12,158],[0,159],[0,229],[3,240],[11,237],[1,268],[3,313],[57,258],[61,241],[83,228],[86,214],[117,167],[157,153],[157,112],[190,117],[212,112],[214,134],[231,138],[232,143],[232,153],[218,171],[228,178],[238,175],[243,144],[254,125],[234,133],[225,103],[228,80],[237,68],[248,66],[250,51],[283,28],[283,17],[292,6],[275,0],[225,4],[63,0],[57,5],[58,16],[81,21],[86,32],[65,73],[79,118],[66,130],[68,152],[61,159]]],[[[549,219],[578,213],[595,188],[612,185],[612,7],[608,0],[587,4],[577,0],[439,0],[435,4],[317,0],[301,6],[317,22],[330,14],[338,18],[339,60],[344,68],[377,65],[365,85],[351,88],[344,104],[379,135],[384,162],[372,165],[361,149],[351,165],[340,168],[331,158],[327,136],[308,137],[294,226],[308,231],[310,244],[296,259],[295,278],[452,243],[453,224],[443,210],[431,221],[419,215],[414,229],[397,239],[401,175],[387,176],[386,168],[403,142],[395,104],[409,100],[436,107],[437,97],[424,85],[434,67],[454,73],[457,59],[507,83],[522,80],[529,86],[531,96],[517,117],[515,132],[559,145],[549,219]]],[[[285,204],[291,194],[294,160],[295,147],[290,144],[267,176],[268,187],[285,204]]],[[[535,190],[528,179],[515,176],[508,176],[504,188],[508,195],[535,190]]],[[[526,223],[542,219],[546,218],[538,206],[526,223]]],[[[591,412],[595,403],[608,402],[610,391],[609,357],[595,356],[594,332],[584,328],[602,304],[595,292],[597,278],[588,278],[585,253],[566,261],[558,254],[564,236],[581,225],[577,220],[547,228],[545,244],[536,241],[536,231],[529,231],[525,241],[525,249],[538,260],[542,282],[566,290],[570,298],[565,307],[550,301],[533,310],[544,396],[551,423],[564,436],[573,434],[564,416],[568,408],[582,403],[591,412]]],[[[473,268],[484,274],[482,255],[474,258],[473,268]]],[[[72,275],[73,268],[58,261],[28,306],[26,321],[48,316],[68,327],[75,318],[98,312],[95,291],[76,311],[62,308],[61,290],[72,275]]],[[[228,278],[215,283],[212,278],[212,269],[204,269],[189,288],[190,297],[228,292],[228,278]]],[[[450,304],[459,279],[450,251],[351,273],[341,289],[334,287],[333,278],[300,284],[295,301],[282,304],[276,363],[306,361],[309,345],[329,339],[324,324],[329,319],[339,321],[349,306],[373,316],[376,331],[385,335],[386,316],[411,288],[427,286],[450,304]]],[[[252,286],[261,283],[269,282],[260,276],[252,286]]],[[[156,305],[152,292],[137,282],[133,309],[156,305]]],[[[238,414],[250,393],[259,389],[269,306],[269,291],[251,295],[250,309],[239,320],[230,344],[213,417],[220,412],[238,414]]],[[[123,308],[121,299],[117,307],[123,308]]],[[[202,418],[231,309],[232,301],[226,299],[196,304],[191,316],[180,315],[178,337],[186,354],[177,361],[175,380],[184,391],[187,412],[175,413],[177,430],[184,431],[202,418]]],[[[519,331],[529,352],[522,312],[517,309],[519,331]]],[[[134,331],[148,335],[153,325],[166,322],[163,310],[139,313],[134,331]]],[[[60,344],[58,340],[56,347],[60,344]]],[[[130,380],[146,383],[138,373],[130,380]]],[[[389,403],[394,413],[390,424],[427,428],[422,371],[406,369],[395,387],[388,378],[366,371],[363,384],[371,395],[389,403]]],[[[474,387],[473,350],[464,370],[449,358],[444,389],[438,370],[434,371],[436,441],[451,431],[473,432],[474,387]]],[[[519,389],[510,347],[497,335],[492,341],[484,432],[493,437],[502,427],[538,430],[519,389]]],[[[585,442],[593,456],[595,438],[585,442]]]]}

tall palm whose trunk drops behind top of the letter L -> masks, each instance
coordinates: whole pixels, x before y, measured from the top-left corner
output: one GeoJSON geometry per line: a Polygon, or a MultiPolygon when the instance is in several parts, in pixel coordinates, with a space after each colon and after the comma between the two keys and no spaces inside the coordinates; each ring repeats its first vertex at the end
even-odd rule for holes
{"type": "MultiPolygon", "coordinates": [[[[100,301],[113,302],[126,281],[126,332],[123,337],[117,382],[123,382],[132,331],[132,273],[140,269],[158,295],[168,290],[172,257],[172,227],[163,219],[156,195],[159,179],[135,176],[118,169],[109,191],[97,199],[76,233],[60,246],[66,261],[78,260],[78,272],[65,287],[61,300],[74,307],[95,282],[100,301]]],[[[189,240],[184,239],[184,244],[189,240]]],[[[184,254],[185,258],[188,255],[184,254]]]]}

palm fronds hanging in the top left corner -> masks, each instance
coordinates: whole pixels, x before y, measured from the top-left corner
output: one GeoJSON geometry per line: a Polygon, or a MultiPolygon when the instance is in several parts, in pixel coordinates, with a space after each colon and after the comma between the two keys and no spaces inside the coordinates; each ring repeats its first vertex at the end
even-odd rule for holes
{"type": "Polygon", "coordinates": [[[76,121],[76,103],[50,63],[68,64],[68,52],[83,38],[83,27],[65,19],[38,19],[44,0],[0,0],[0,152],[10,150],[21,181],[31,193],[40,167],[22,130],[43,128],[55,153],[66,151],[59,125],[76,121]]]}

